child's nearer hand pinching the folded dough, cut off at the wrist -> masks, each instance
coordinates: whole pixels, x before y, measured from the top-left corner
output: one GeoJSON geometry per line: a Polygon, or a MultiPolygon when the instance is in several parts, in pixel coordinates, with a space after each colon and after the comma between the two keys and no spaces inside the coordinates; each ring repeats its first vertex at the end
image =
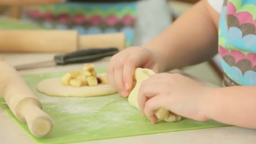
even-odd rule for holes
{"type": "Polygon", "coordinates": [[[204,121],[204,100],[208,89],[180,74],[157,74],[141,83],[138,103],[142,115],[157,122],[155,110],[165,108],[183,117],[204,121]]]}

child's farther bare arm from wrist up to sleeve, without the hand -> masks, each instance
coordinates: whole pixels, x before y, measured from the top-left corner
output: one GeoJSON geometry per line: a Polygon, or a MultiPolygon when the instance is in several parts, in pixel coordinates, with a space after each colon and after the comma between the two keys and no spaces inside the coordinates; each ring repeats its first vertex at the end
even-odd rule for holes
{"type": "Polygon", "coordinates": [[[219,13],[201,0],[143,47],[163,56],[164,70],[196,64],[217,53],[218,23],[219,13]]]}

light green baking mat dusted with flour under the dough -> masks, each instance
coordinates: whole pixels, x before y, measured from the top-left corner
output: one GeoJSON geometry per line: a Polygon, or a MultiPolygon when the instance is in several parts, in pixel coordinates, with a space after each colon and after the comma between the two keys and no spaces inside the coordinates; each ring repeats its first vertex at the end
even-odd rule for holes
{"type": "MultiPolygon", "coordinates": [[[[106,72],[106,69],[97,69],[97,72],[106,72]]],[[[141,116],[141,112],[131,106],[126,98],[118,94],[87,98],[62,98],[47,96],[36,90],[40,80],[61,77],[64,73],[54,72],[22,76],[40,99],[43,110],[53,118],[53,130],[45,138],[32,136],[27,125],[19,122],[3,98],[0,98],[0,107],[37,143],[71,143],[227,126],[213,120],[199,122],[190,119],[182,119],[173,123],[160,121],[160,123],[153,125],[141,116]]]]}

